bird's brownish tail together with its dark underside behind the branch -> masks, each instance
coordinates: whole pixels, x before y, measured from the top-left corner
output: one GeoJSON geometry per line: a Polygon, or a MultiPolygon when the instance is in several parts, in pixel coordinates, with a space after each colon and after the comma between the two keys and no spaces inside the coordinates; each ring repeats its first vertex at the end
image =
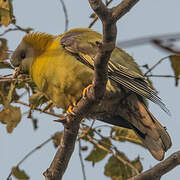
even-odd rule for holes
{"type": "Polygon", "coordinates": [[[89,118],[98,119],[115,126],[133,129],[152,156],[164,158],[171,147],[171,139],[165,128],[149,112],[144,101],[132,93],[121,99],[104,99],[89,118]]]}

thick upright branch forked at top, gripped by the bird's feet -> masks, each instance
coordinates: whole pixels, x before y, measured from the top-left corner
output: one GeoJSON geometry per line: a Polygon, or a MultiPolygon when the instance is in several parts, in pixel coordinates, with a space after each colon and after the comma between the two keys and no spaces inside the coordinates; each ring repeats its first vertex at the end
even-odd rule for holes
{"type": "Polygon", "coordinates": [[[59,120],[64,122],[64,133],[53,162],[44,172],[46,180],[62,179],[74,151],[80,122],[90,112],[93,105],[98,103],[104,95],[107,82],[107,63],[116,41],[116,22],[137,2],[135,0],[124,0],[122,1],[123,8],[120,8],[122,6],[122,3],[120,3],[118,9],[114,12],[114,8],[108,9],[101,0],[89,0],[92,9],[99,16],[103,24],[103,41],[98,43],[99,51],[95,57],[93,86],[88,89],[86,95],[78,102],[77,106],[73,107],[73,114],[68,114],[59,120]]]}

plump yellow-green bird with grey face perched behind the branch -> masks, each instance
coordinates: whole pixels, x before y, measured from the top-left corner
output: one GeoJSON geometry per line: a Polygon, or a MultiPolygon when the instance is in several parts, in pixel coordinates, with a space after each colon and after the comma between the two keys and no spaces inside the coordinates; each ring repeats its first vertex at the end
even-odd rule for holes
{"type": "MultiPolygon", "coordinates": [[[[60,35],[33,32],[23,37],[11,64],[30,75],[38,89],[56,107],[67,110],[92,84],[94,60],[102,35],[75,28],[60,35]]],[[[115,47],[108,62],[105,94],[87,117],[133,130],[156,160],[171,147],[166,129],[149,111],[147,99],[169,112],[139,66],[128,53],[115,47]]]]}

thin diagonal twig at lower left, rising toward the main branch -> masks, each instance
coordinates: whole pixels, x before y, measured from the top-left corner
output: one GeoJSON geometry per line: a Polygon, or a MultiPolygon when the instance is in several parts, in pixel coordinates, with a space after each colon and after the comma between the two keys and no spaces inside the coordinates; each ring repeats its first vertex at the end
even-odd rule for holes
{"type": "MultiPolygon", "coordinates": [[[[39,150],[40,148],[42,148],[44,145],[46,145],[48,142],[50,142],[52,140],[53,137],[50,137],[49,139],[47,139],[46,141],[44,141],[43,143],[41,143],[40,145],[38,145],[37,147],[35,147],[33,150],[31,150],[29,153],[27,153],[18,163],[15,167],[19,167],[29,156],[31,156],[34,152],[36,152],[37,150],[39,150]]],[[[9,173],[7,180],[10,180],[12,175],[12,170],[9,173]]]]}

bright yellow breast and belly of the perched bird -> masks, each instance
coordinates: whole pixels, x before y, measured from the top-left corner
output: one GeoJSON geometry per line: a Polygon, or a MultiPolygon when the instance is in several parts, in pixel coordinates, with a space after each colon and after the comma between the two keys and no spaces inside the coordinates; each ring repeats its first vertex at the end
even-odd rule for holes
{"type": "Polygon", "coordinates": [[[92,83],[93,71],[68,54],[57,38],[31,66],[31,76],[38,88],[57,107],[67,109],[82,96],[82,90],[92,83]]]}

